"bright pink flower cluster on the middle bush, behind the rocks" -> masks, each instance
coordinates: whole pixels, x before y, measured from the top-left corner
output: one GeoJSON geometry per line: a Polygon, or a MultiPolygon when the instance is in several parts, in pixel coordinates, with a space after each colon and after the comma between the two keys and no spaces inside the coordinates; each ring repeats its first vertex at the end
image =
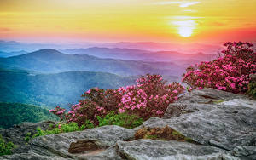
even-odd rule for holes
{"type": "Polygon", "coordinates": [[[183,90],[179,83],[166,84],[160,75],[147,75],[137,79],[137,85],[119,88],[122,94],[119,111],[137,114],[144,119],[161,117],[183,90]]]}

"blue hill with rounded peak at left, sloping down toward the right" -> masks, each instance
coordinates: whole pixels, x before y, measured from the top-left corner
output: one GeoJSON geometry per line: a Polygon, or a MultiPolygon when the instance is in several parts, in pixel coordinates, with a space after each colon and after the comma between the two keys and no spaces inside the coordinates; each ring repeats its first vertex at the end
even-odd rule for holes
{"type": "Polygon", "coordinates": [[[41,49],[29,54],[0,59],[4,68],[20,68],[44,73],[63,71],[103,71],[122,76],[157,73],[180,75],[184,66],[172,62],[146,62],[138,60],[102,59],[87,54],[62,54],[55,49],[41,49]]]}

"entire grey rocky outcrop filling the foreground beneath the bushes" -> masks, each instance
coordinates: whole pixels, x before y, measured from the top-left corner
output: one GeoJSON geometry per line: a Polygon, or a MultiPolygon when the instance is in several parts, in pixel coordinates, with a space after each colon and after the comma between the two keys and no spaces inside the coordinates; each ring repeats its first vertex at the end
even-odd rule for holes
{"type": "Polygon", "coordinates": [[[195,90],[171,104],[163,118],[151,117],[136,129],[103,126],[50,134],[32,140],[22,153],[1,158],[256,159],[255,101],[216,89],[195,90]],[[165,137],[143,139],[152,132],[165,137]],[[174,132],[181,134],[179,141],[168,135],[174,132]]]}

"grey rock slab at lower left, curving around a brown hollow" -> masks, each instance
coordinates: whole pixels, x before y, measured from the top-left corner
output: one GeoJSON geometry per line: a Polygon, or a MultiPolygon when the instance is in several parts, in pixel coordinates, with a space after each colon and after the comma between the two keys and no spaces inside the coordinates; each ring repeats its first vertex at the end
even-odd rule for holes
{"type": "Polygon", "coordinates": [[[79,154],[71,154],[68,148],[77,140],[98,140],[101,146],[113,146],[118,140],[133,138],[135,131],[119,126],[103,126],[95,129],[87,129],[80,132],[49,134],[32,140],[32,152],[40,155],[58,155],[61,157],[77,157],[79,154]]]}

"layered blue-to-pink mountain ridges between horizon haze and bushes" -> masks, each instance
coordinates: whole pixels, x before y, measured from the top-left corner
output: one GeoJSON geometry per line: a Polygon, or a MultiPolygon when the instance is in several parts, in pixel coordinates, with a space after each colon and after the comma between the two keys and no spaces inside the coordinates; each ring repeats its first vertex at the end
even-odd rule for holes
{"type": "MultiPolygon", "coordinates": [[[[31,53],[10,51],[0,55],[0,102],[3,106],[26,107],[29,104],[48,109],[55,106],[68,109],[88,89],[117,89],[134,84],[137,77],[147,73],[160,74],[168,82],[180,81],[187,66],[216,56],[98,47],[40,49],[31,53]]],[[[34,112],[41,114],[38,111],[34,112]]],[[[10,122],[9,126],[12,123],[15,122],[10,122]]]]}

